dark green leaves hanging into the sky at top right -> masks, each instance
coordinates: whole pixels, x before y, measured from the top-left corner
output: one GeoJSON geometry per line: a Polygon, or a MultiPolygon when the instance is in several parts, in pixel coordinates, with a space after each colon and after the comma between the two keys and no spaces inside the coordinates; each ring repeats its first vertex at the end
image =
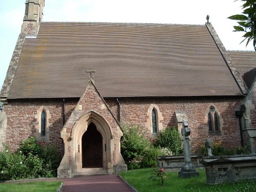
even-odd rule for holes
{"type": "Polygon", "coordinates": [[[245,37],[245,39],[248,38],[246,46],[249,44],[251,40],[253,40],[253,47],[254,47],[254,50],[256,51],[256,1],[255,0],[241,0],[241,1],[244,2],[242,6],[244,9],[244,11],[242,12],[243,14],[232,15],[228,18],[232,20],[239,20],[238,22],[239,26],[233,26],[234,31],[245,32],[243,37],[245,37]]]}

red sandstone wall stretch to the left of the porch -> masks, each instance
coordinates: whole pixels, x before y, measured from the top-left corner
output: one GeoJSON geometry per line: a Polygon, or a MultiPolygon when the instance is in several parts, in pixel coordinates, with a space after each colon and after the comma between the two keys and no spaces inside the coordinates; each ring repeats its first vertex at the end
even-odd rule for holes
{"type": "MultiPolygon", "coordinates": [[[[68,100],[65,104],[65,119],[67,120],[70,113],[74,109],[77,101],[68,100]]],[[[6,130],[6,144],[12,150],[17,150],[19,144],[34,136],[37,119],[35,115],[40,106],[46,106],[50,111],[51,118],[49,142],[55,145],[60,154],[63,155],[63,142],[60,138],[60,130],[63,127],[63,100],[49,99],[49,100],[23,100],[23,101],[9,101],[5,105],[5,112],[7,115],[7,130],[6,130]]]]}

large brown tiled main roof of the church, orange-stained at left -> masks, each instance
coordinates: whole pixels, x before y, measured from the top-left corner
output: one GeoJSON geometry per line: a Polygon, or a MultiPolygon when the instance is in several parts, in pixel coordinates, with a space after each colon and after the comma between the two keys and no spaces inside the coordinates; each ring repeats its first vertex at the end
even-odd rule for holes
{"type": "Polygon", "coordinates": [[[8,98],[79,98],[90,67],[103,97],[243,95],[204,25],[41,23],[8,98]]]}

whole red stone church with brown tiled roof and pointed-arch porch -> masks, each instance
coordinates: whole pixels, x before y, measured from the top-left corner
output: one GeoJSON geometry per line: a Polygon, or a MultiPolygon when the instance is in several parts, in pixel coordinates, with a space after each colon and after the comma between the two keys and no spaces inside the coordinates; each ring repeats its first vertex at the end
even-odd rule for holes
{"type": "Polygon", "coordinates": [[[148,139],[183,122],[192,152],[206,138],[256,148],[256,52],[227,51],[205,25],[42,22],[26,0],[1,90],[0,147],[58,148],[59,178],[126,168],[122,123],[148,139]]]}

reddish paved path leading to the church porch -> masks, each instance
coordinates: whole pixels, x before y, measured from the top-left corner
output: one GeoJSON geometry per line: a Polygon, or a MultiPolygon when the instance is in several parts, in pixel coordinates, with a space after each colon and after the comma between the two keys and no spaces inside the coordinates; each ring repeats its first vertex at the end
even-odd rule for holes
{"type": "Polygon", "coordinates": [[[61,192],[131,192],[117,175],[88,176],[61,179],[64,182],[61,192]]]}

